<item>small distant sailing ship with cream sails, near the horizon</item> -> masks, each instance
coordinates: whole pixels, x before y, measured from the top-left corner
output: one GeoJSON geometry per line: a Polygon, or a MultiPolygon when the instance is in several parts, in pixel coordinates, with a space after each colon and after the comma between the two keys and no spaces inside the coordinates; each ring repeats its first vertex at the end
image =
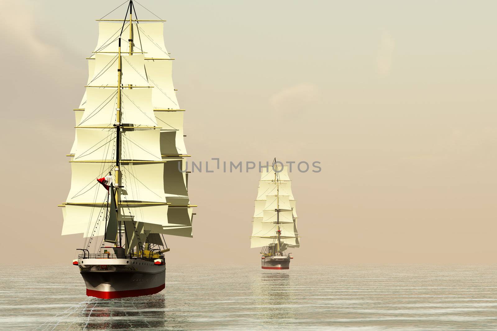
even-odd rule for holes
{"type": "Polygon", "coordinates": [[[297,213],[287,167],[274,159],[262,168],[252,221],[250,248],[262,247],[262,269],[289,269],[291,253],[298,248],[297,213]]]}

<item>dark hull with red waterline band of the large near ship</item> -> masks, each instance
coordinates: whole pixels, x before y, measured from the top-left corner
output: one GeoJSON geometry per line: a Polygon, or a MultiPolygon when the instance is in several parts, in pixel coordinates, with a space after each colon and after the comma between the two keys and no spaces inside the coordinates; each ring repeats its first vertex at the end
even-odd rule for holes
{"type": "Polygon", "coordinates": [[[80,271],[87,296],[115,299],[152,295],[166,286],[165,265],[137,259],[85,259],[82,262],[80,271]]]}

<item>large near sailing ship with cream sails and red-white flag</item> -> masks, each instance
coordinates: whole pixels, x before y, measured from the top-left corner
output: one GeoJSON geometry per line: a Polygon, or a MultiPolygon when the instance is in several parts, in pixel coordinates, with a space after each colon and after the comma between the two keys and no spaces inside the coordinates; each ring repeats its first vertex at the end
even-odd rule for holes
{"type": "Polygon", "coordinates": [[[133,0],[127,5],[123,19],[97,20],[85,93],[74,109],[71,189],[59,205],[62,235],[83,234],[73,265],[86,295],[102,299],[164,289],[164,235],[192,237],[195,207],[164,20],[140,20],[133,0]]]}

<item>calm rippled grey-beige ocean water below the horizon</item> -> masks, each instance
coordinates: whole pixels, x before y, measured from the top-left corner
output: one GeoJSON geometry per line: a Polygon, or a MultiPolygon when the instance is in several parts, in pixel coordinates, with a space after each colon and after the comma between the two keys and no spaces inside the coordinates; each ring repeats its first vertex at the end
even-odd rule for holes
{"type": "Polygon", "coordinates": [[[84,295],[72,265],[0,265],[0,330],[497,330],[497,265],[168,265],[166,289],[84,295]]]}

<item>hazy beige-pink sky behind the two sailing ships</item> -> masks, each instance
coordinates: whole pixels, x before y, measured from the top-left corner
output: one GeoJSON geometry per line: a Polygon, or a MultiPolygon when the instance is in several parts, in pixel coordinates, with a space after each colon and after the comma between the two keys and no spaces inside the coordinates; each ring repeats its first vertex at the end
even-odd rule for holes
{"type": "MultiPolygon", "coordinates": [[[[0,263],[70,264],[72,109],[122,1],[3,2],[0,263]]],[[[497,262],[496,1],[140,2],[167,20],[191,160],[321,162],[291,174],[292,263],[497,262]]],[[[168,262],[257,265],[258,178],[191,174],[168,262]]]]}

